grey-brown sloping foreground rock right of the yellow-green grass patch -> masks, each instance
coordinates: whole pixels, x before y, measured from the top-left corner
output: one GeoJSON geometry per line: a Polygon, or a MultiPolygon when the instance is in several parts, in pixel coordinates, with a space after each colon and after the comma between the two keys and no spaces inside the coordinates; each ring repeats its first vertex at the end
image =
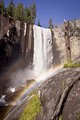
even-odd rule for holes
{"type": "Polygon", "coordinates": [[[80,119],[80,68],[64,69],[44,82],[39,89],[41,91],[42,111],[38,114],[36,120],[56,120],[59,119],[60,114],[63,120],[80,119]],[[57,117],[53,118],[55,110],[59,107],[58,103],[61,95],[78,76],[79,81],[68,91],[60,113],[57,117]]]}

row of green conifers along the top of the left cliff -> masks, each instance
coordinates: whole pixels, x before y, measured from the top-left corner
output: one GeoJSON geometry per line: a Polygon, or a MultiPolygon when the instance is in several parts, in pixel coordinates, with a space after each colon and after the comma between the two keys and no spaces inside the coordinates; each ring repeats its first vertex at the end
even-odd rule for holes
{"type": "Polygon", "coordinates": [[[9,5],[5,8],[3,1],[0,3],[0,14],[4,12],[17,20],[34,24],[36,18],[36,4],[34,3],[29,8],[25,8],[23,3],[18,3],[18,5],[15,6],[13,0],[10,0],[9,5]]]}

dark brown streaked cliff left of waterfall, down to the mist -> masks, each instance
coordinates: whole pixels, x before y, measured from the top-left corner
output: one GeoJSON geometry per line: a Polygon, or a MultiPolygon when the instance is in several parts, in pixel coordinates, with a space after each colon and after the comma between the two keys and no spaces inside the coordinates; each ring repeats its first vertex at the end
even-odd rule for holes
{"type": "Polygon", "coordinates": [[[28,66],[33,60],[33,26],[1,15],[0,19],[0,69],[19,57],[28,66]]]}

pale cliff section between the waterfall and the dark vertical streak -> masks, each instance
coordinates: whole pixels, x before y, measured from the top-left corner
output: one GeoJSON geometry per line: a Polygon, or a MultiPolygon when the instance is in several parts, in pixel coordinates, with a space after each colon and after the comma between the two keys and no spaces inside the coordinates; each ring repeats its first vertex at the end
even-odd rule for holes
{"type": "Polygon", "coordinates": [[[66,61],[66,49],[65,49],[65,39],[64,39],[64,28],[63,26],[58,26],[53,29],[53,54],[55,66],[65,63],[66,61]]]}

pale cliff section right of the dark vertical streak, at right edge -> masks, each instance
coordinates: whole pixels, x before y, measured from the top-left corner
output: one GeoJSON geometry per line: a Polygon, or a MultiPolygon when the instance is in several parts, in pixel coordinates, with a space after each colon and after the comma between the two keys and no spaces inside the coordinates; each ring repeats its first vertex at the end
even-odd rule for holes
{"type": "Polygon", "coordinates": [[[80,57],[80,19],[71,22],[72,36],[70,37],[71,59],[76,60],[80,57]]]}

